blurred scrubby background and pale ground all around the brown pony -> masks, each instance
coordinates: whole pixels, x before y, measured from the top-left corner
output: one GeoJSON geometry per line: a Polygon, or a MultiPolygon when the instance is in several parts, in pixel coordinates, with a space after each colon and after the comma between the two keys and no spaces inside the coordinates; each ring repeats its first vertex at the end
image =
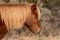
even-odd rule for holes
{"type": "Polygon", "coordinates": [[[10,31],[3,40],[60,40],[60,0],[0,0],[0,3],[35,3],[41,11],[39,34],[23,27],[10,31]]]}

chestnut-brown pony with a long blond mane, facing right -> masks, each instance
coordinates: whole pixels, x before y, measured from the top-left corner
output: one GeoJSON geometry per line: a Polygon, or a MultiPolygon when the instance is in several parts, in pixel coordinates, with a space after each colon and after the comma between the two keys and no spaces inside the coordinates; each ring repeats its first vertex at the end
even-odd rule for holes
{"type": "Polygon", "coordinates": [[[0,39],[25,24],[32,32],[41,30],[40,11],[36,4],[0,4],[0,39]]]}

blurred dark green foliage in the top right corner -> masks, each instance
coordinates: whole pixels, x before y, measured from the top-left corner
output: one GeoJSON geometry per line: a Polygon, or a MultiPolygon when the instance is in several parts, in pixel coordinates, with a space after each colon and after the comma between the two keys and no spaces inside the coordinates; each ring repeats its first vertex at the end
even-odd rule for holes
{"type": "Polygon", "coordinates": [[[58,7],[60,7],[60,0],[42,0],[42,7],[43,8],[48,8],[52,12],[52,15],[54,15],[58,7]]]}

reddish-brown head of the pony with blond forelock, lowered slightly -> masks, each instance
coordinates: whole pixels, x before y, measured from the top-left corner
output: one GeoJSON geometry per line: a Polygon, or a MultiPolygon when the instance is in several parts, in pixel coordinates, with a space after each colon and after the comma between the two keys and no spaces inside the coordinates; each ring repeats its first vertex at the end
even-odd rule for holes
{"type": "Polygon", "coordinates": [[[35,33],[38,33],[41,31],[41,25],[40,25],[40,10],[38,7],[33,4],[31,6],[31,15],[27,18],[25,25],[35,33]]]}

